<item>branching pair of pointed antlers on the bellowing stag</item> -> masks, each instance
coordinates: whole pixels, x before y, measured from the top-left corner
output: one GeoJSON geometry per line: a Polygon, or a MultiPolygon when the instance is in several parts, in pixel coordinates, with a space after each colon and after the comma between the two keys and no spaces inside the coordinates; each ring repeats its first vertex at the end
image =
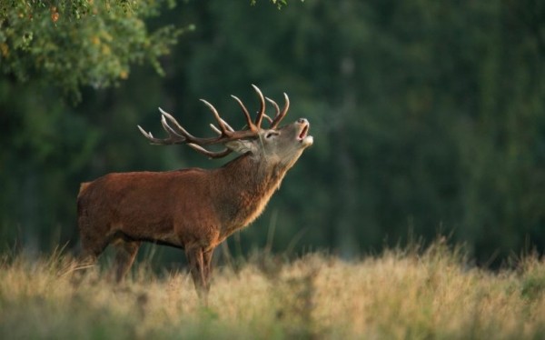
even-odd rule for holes
{"type": "Polygon", "coordinates": [[[278,105],[274,103],[271,99],[267,98],[269,102],[272,103],[276,107],[276,116],[274,117],[274,120],[272,120],[268,115],[265,114],[265,99],[263,97],[263,94],[261,90],[256,86],[252,85],[253,89],[259,96],[260,102],[261,102],[261,108],[258,112],[257,116],[255,117],[255,121],[252,121],[252,117],[248,113],[248,110],[243,105],[243,102],[236,96],[232,95],[234,100],[238,102],[238,104],[241,106],[243,110],[244,117],[246,118],[246,125],[248,125],[248,128],[246,130],[241,131],[235,131],[233,127],[231,127],[227,122],[225,122],[222,117],[218,114],[218,111],[213,107],[212,104],[208,103],[204,99],[201,99],[201,101],[204,103],[204,105],[207,105],[210,110],[212,111],[217,124],[219,125],[219,128],[217,128],[214,125],[210,125],[213,129],[213,131],[218,134],[216,137],[209,137],[209,138],[200,138],[195,137],[194,135],[191,135],[189,132],[187,132],[182,125],[180,125],[176,119],[163,111],[163,109],[159,108],[159,111],[162,114],[161,118],[161,125],[163,125],[164,131],[169,135],[168,138],[155,138],[152,133],[146,133],[144,129],[138,125],[138,129],[140,132],[146,137],[148,140],[152,142],[154,145],[180,145],[180,144],[186,144],[192,147],[194,150],[200,152],[203,155],[207,155],[211,158],[220,158],[225,155],[229,155],[231,153],[231,150],[228,148],[223,149],[219,152],[213,152],[209,151],[205,148],[203,148],[203,145],[217,145],[217,144],[224,144],[229,141],[237,140],[237,139],[243,139],[243,138],[255,138],[259,134],[259,131],[261,129],[261,125],[263,122],[263,117],[269,120],[271,122],[271,127],[275,128],[280,121],[282,120],[283,116],[286,115],[288,107],[289,107],[289,99],[288,96],[284,94],[284,97],[286,99],[286,105],[280,113],[280,109],[278,108],[278,105]],[[167,121],[168,120],[168,121],[167,121]],[[169,122],[171,125],[169,125],[169,122]]]}

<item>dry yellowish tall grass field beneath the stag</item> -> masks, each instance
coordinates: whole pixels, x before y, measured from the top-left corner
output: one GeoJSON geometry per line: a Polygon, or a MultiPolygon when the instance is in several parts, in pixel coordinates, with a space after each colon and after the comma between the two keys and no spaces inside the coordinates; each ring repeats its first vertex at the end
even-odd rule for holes
{"type": "Polygon", "coordinates": [[[344,262],[255,256],[215,269],[210,305],[187,273],[134,269],[122,285],[69,255],[0,261],[3,339],[543,339],[545,262],[499,272],[437,242],[344,262]]]}

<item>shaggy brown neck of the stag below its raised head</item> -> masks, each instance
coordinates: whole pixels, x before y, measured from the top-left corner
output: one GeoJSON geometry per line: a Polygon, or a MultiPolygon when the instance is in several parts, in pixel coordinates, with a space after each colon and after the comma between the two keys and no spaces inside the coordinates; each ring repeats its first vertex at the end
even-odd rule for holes
{"type": "Polygon", "coordinates": [[[287,168],[246,154],[218,169],[222,231],[227,237],[253,222],[280,186],[287,168]]]}

